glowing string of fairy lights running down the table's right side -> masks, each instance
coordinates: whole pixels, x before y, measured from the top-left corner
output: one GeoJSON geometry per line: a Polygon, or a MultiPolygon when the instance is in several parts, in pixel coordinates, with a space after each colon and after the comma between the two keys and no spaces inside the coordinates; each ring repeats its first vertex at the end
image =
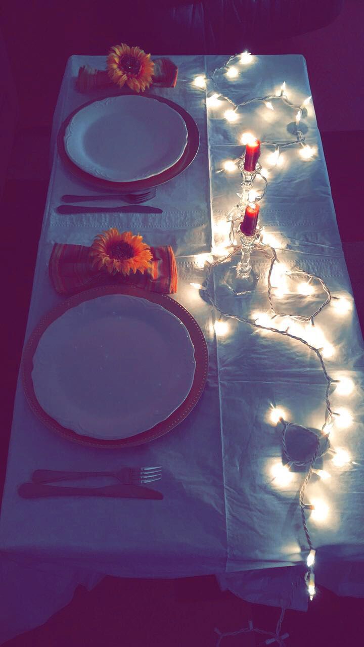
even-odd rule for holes
{"type": "MultiPolygon", "coordinates": [[[[239,66],[244,68],[245,65],[249,65],[254,61],[255,57],[251,56],[250,52],[243,52],[238,56],[231,56],[229,60],[220,68],[217,68],[209,76],[209,85],[213,86],[214,93],[207,96],[207,106],[209,109],[223,109],[226,107],[225,102],[228,102],[232,107],[225,109],[223,116],[228,123],[236,122],[239,118],[239,109],[243,108],[247,104],[253,102],[259,102],[260,104],[266,105],[267,110],[274,110],[275,104],[277,101],[284,102],[284,104],[291,107],[295,110],[295,128],[293,130],[293,139],[287,140],[284,142],[275,142],[275,141],[266,141],[260,142],[263,146],[269,148],[273,147],[273,152],[269,155],[269,163],[272,168],[278,169],[283,162],[281,151],[291,147],[297,146],[299,148],[299,154],[302,157],[302,160],[313,159],[317,149],[314,146],[308,146],[305,144],[305,136],[302,130],[300,129],[301,118],[302,116],[308,115],[308,105],[310,104],[311,96],[305,98],[301,104],[294,104],[288,99],[286,83],[283,82],[279,90],[275,94],[267,94],[266,96],[260,96],[245,100],[239,104],[234,104],[231,98],[220,93],[218,88],[218,82],[216,81],[216,76],[218,72],[225,74],[226,78],[234,81],[236,80],[242,69],[239,69],[239,66]]],[[[196,87],[205,89],[206,87],[206,78],[204,76],[196,76],[192,82],[196,87]]],[[[240,135],[239,143],[246,145],[251,139],[254,138],[252,133],[242,133],[240,135]]],[[[242,177],[244,178],[244,171],[242,171],[242,160],[244,160],[244,155],[238,159],[225,160],[223,162],[222,168],[218,169],[217,173],[227,172],[233,173],[234,171],[240,170],[242,177]]],[[[264,197],[267,190],[267,178],[269,177],[269,170],[262,168],[260,164],[256,164],[256,171],[253,174],[252,184],[249,190],[249,203],[258,202],[264,197]],[[263,179],[264,188],[262,190],[256,191],[253,189],[253,184],[256,178],[263,179]]],[[[242,184],[243,186],[243,184],[242,184]]],[[[323,521],[329,512],[328,505],[325,501],[321,499],[312,499],[309,503],[305,501],[306,487],[310,481],[312,474],[317,475],[321,480],[326,481],[330,478],[330,473],[327,470],[315,468],[315,461],[317,457],[327,454],[330,455],[332,462],[336,467],[348,466],[350,463],[353,463],[350,455],[348,454],[345,448],[330,448],[328,439],[330,436],[330,430],[332,430],[335,425],[338,428],[349,428],[352,424],[352,415],[350,411],[345,408],[336,408],[332,410],[330,403],[330,394],[332,391],[333,385],[335,386],[335,392],[340,396],[350,395],[355,388],[354,382],[347,377],[332,378],[330,377],[328,370],[326,369],[325,360],[330,360],[332,356],[335,355],[335,347],[333,344],[326,340],[323,331],[315,324],[315,318],[323,312],[326,307],[334,307],[337,314],[346,314],[352,308],[352,303],[348,298],[342,296],[336,296],[331,294],[330,289],[324,283],[323,279],[315,274],[310,274],[304,272],[304,270],[293,269],[290,270],[284,263],[282,263],[277,257],[277,252],[275,247],[273,247],[274,239],[269,237],[269,235],[264,232],[264,228],[260,230],[258,236],[256,236],[254,251],[260,252],[270,259],[270,267],[267,274],[267,297],[269,300],[269,313],[253,313],[250,317],[237,316],[233,313],[228,313],[220,309],[218,303],[216,303],[216,298],[214,296],[214,289],[212,289],[212,283],[214,279],[214,269],[222,264],[227,263],[233,259],[233,257],[238,254],[241,250],[241,246],[236,244],[236,222],[240,222],[243,218],[241,212],[242,208],[242,194],[238,193],[240,197],[240,203],[234,208],[233,215],[232,213],[227,215],[226,222],[230,223],[230,232],[229,239],[225,240],[225,244],[216,245],[212,248],[211,254],[200,254],[196,256],[196,265],[199,268],[207,268],[207,275],[203,285],[199,283],[191,283],[192,287],[203,291],[207,300],[214,306],[218,317],[216,317],[214,323],[214,331],[216,336],[222,336],[228,333],[229,324],[228,320],[233,319],[238,322],[246,323],[251,327],[260,329],[262,331],[270,331],[271,333],[279,334],[281,336],[290,338],[295,342],[300,342],[308,350],[315,353],[319,365],[323,371],[323,375],[326,381],[326,389],[324,391],[324,402],[325,402],[325,415],[324,422],[321,428],[321,432],[315,433],[312,430],[303,427],[301,425],[293,424],[287,421],[288,414],[279,406],[271,406],[269,410],[269,417],[272,424],[276,426],[280,424],[282,426],[281,433],[281,445],[282,445],[282,454],[284,455],[285,462],[281,461],[277,463],[272,470],[272,476],[275,481],[280,485],[280,487],[285,487],[289,485],[291,478],[293,477],[293,472],[296,468],[304,468],[305,476],[304,481],[301,485],[299,492],[299,507],[301,509],[302,516],[302,527],[306,536],[306,541],[308,544],[308,551],[306,555],[306,565],[307,570],[304,575],[304,581],[306,582],[308,596],[312,600],[315,595],[315,573],[314,573],[314,564],[315,564],[315,554],[316,550],[312,543],[312,538],[310,536],[310,529],[308,527],[308,520],[306,514],[310,510],[310,521],[320,522],[323,521]],[[213,258],[216,258],[213,260],[213,258]],[[295,313],[286,313],[279,312],[273,305],[273,296],[275,299],[279,300],[285,294],[290,293],[290,285],[288,281],[290,278],[299,278],[300,281],[298,285],[295,283],[295,292],[297,295],[304,295],[306,297],[313,296],[317,294],[317,289],[319,289],[324,294],[324,300],[317,307],[317,309],[310,314],[309,316],[302,316],[295,313]],[[304,461],[297,459],[297,457],[290,455],[287,444],[287,435],[290,432],[295,432],[300,430],[301,433],[306,433],[310,435],[313,439],[313,449],[310,457],[304,461]],[[324,449],[321,449],[322,441],[326,441],[324,449]]],[[[218,229],[220,229],[218,227],[218,229]]],[[[297,583],[296,583],[297,584],[297,583]]],[[[296,586],[293,583],[294,586],[296,586]]],[[[284,639],[288,637],[288,634],[280,635],[280,628],[282,625],[282,620],[284,617],[284,611],[288,606],[290,606],[291,600],[288,602],[286,607],[282,609],[280,614],[279,622],[277,623],[277,628],[274,633],[269,633],[267,631],[258,630],[253,627],[253,623],[249,622],[249,626],[243,630],[235,631],[233,633],[222,633],[219,630],[216,630],[218,633],[218,645],[224,637],[238,635],[240,633],[248,633],[249,631],[255,631],[256,633],[266,634],[268,638],[265,641],[265,644],[270,644],[277,642],[279,645],[284,646],[284,639]]]]}

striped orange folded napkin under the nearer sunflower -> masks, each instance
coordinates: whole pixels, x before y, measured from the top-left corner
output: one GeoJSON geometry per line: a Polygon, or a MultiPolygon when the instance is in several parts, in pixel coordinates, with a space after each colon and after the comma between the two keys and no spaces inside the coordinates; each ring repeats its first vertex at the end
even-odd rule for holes
{"type": "Polygon", "coordinates": [[[150,247],[150,268],[142,274],[109,274],[91,265],[91,247],[56,243],[49,259],[49,276],[58,294],[71,295],[98,285],[134,285],[150,292],[177,292],[177,265],[172,247],[150,247]]]}

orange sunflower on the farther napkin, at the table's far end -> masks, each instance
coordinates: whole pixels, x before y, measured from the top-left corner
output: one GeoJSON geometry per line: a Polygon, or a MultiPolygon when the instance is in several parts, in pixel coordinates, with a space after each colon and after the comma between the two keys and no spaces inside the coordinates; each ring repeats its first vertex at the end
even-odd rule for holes
{"type": "Polygon", "coordinates": [[[150,54],[139,47],[129,47],[125,43],[111,47],[108,56],[108,74],[119,87],[128,85],[131,90],[144,92],[150,86],[154,62],[150,54]]]}

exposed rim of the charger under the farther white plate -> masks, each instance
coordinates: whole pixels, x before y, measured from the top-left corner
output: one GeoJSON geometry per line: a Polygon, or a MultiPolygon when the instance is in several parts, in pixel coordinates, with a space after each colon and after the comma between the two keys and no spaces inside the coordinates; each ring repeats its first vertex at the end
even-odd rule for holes
{"type": "Polygon", "coordinates": [[[170,168],[166,169],[165,171],[162,171],[161,173],[158,173],[157,175],[151,175],[150,177],[143,179],[143,180],[135,180],[132,182],[114,182],[111,180],[104,180],[103,178],[98,178],[93,175],[89,175],[89,173],[86,173],[86,171],[83,171],[80,167],[78,167],[74,162],[68,157],[67,151],[65,150],[65,144],[64,144],[64,136],[65,136],[65,131],[67,129],[67,126],[69,125],[69,122],[73,118],[73,116],[78,113],[80,110],[82,110],[84,107],[87,105],[93,104],[97,101],[102,101],[107,98],[113,98],[114,96],[128,96],[128,95],[135,95],[133,92],[124,92],[121,94],[108,94],[106,96],[100,96],[98,98],[91,99],[90,101],[85,102],[82,105],[79,105],[76,109],[74,109],[62,122],[60,129],[58,130],[58,136],[57,136],[57,148],[58,148],[58,154],[60,155],[60,158],[62,159],[63,164],[65,164],[66,168],[71,170],[73,175],[75,175],[78,179],[82,180],[85,182],[85,184],[93,186],[93,188],[102,188],[106,190],[115,190],[119,193],[122,192],[131,192],[131,191],[139,191],[142,189],[151,189],[154,188],[155,186],[160,186],[161,184],[165,184],[165,182],[168,182],[172,180],[174,177],[177,177],[180,173],[185,171],[190,164],[192,164],[193,160],[195,159],[198,149],[199,149],[199,130],[198,126],[192,118],[192,116],[185,110],[185,108],[181,107],[181,105],[176,104],[175,102],[171,101],[170,99],[166,99],[164,96],[158,96],[157,94],[141,94],[141,98],[152,98],[156,99],[157,101],[160,101],[162,103],[165,103],[172,107],[174,110],[179,113],[179,115],[182,116],[183,120],[185,121],[186,127],[187,127],[187,146],[185,147],[185,150],[183,151],[183,154],[177,160],[176,164],[174,166],[170,166],[170,168]]]}

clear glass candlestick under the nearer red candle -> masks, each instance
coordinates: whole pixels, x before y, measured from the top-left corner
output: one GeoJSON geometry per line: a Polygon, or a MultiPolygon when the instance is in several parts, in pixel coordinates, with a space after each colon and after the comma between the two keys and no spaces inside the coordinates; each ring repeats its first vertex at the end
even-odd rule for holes
{"type": "Polygon", "coordinates": [[[240,258],[238,262],[236,262],[236,259],[233,257],[233,262],[225,274],[225,283],[227,287],[237,296],[254,290],[258,283],[259,277],[251,267],[251,252],[253,251],[255,241],[259,236],[260,228],[258,227],[256,228],[255,233],[251,236],[246,236],[239,231],[240,243],[242,246],[240,250],[240,258]]]}

